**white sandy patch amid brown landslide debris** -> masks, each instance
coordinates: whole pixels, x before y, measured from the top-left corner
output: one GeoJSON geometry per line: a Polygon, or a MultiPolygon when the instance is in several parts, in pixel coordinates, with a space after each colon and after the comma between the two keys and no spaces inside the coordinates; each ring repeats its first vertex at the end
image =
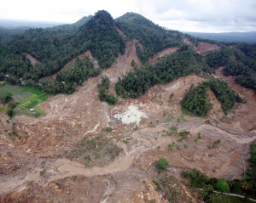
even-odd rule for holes
{"type": "Polygon", "coordinates": [[[139,124],[141,118],[148,118],[148,116],[138,109],[139,108],[136,105],[130,105],[125,113],[116,114],[113,117],[122,121],[124,124],[130,124],[135,122],[139,124]]]}

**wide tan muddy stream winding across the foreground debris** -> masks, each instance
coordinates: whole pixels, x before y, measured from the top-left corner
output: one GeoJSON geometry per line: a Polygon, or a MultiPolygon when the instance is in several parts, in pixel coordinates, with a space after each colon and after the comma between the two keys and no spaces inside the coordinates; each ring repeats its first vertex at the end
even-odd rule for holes
{"type": "Polygon", "coordinates": [[[158,132],[163,130],[166,130],[166,127],[159,125],[154,128],[146,127],[133,133],[131,135],[132,143],[128,145],[120,143],[119,145],[123,145],[122,147],[124,148],[123,154],[119,155],[119,158],[108,166],[85,168],[84,165],[76,161],[58,159],[52,165],[44,167],[46,170],[45,173],[49,178],[40,177],[40,172],[42,172],[44,168],[36,168],[32,172],[28,173],[25,178],[16,177],[7,182],[0,183],[0,194],[8,193],[16,187],[23,189],[25,187],[23,184],[30,181],[35,181],[39,185],[47,186],[51,181],[73,175],[91,177],[109,174],[112,172],[125,171],[129,166],[131,166],[132,161],[137,159],[143,152],[148,149],[154,149],[158,146],[170,144],[174,141],[175,138],[163,137],[160,133],[158,134],[158,132]]]}

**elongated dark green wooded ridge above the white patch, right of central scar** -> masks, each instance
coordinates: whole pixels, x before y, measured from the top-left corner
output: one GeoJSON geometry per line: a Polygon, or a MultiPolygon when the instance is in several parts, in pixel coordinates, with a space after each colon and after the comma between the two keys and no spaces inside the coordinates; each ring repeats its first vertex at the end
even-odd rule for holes
{"type": "Polygon", "coordinates": [[[175,54],[160,59],[155,65],[147,63],[119,78],[115,90],[123,98],[136,98],[155,84],[165,84],[181,76],[198,73],[201,68],[201,56],[188,45],[183,45],[175,54]]]}

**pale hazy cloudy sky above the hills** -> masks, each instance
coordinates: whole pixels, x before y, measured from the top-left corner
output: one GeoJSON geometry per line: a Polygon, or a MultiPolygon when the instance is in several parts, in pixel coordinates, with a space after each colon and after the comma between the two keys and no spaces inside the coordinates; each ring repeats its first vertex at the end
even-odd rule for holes
{"type": "Polygon", "coordinates": [[[178,31],[256,31],[256,0],[0,0],[0,19],[73,23],[97,10],[135,12],[178,31]]]}

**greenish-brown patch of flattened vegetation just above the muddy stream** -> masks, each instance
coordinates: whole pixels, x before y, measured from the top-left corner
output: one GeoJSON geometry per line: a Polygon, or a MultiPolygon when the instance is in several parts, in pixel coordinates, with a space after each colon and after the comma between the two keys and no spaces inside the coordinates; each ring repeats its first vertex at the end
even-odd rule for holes
{"type": "MultiPolygon", "coordinates": [[[[107,133],[108,129],[106,128],[107,133]]],[[[106,133],[101,133],[96,138],[85,136],[78,143],[66,150],[64,157],[73,161],[79,161],[87,167],[106,166],[117,157],[120,149],[113,141],[108,140],[106,133]]]]}

